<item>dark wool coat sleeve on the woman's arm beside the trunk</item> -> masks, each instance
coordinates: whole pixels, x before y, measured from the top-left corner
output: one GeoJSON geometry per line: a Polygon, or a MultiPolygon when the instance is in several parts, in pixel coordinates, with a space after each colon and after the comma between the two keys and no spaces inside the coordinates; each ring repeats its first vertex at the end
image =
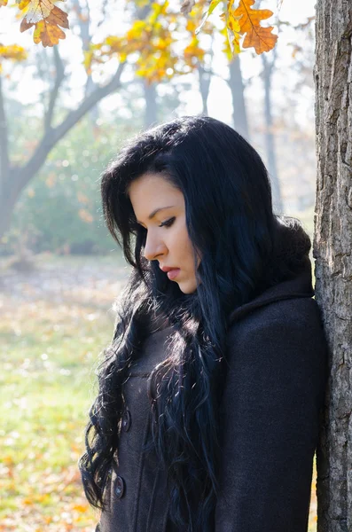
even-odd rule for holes
{"type": "Polygon", "coordinates": [[[310,301],[270,305],[230,332],[215,532],[307,532],[327,361],[310,301]]]}

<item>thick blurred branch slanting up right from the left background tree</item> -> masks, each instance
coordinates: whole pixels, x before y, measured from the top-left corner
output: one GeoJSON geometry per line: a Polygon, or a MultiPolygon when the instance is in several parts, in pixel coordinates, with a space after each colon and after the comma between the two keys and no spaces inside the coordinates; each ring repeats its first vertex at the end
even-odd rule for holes
{"type": "Polygon", "coordinates": [[[62,121],[56,128],[51,128],[44,135],[40,144],[35,149],[30,160],[21,168],[17,168],[16,178],[20,180],[21,188],[32,179],[35,173],[42,167],[51,149],[56,145],[66,133],[74,127],[74,125],[82,119],[82,117],[90,111],[98,102],[111,94],[113,90],[121,86],[121,74],[126,63],[120,63],[113,78],[104,87],[98,87],[90,93],[89,96],[83,99],[80,106],[74,111],[69,111],[64,121],[62,121]]]}

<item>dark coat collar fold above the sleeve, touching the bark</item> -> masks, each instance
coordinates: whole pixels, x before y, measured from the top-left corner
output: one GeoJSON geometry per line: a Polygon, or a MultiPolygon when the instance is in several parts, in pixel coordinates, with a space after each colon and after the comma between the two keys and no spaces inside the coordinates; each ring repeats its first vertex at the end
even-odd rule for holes
{"type": "Polygon", "coordinates": [[[307,266],[294,278],[282,281],[277,285],[270,286],[253,300],[248,301],[237,309],[234,309],[229,317],[229,325],[239,321],[254,309],[269,305],[273,301],[280,301],[301,297],[313,297],[315,291],[312,286],[311,262],[307,260],[307,266]]]}

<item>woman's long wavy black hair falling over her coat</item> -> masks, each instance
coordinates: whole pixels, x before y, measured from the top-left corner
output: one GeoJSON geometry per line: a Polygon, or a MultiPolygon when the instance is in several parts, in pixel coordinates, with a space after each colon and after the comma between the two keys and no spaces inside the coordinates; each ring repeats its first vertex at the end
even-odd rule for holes
{"type": "Polygon", "coordinates": [[[132,271],[98,368],[98,397],[79,462],[86,497],[105,508],[108,473],[118,456],[121,387],[155,320],[164,321],[172,326],[172,341],[149,378],[154,393],[146,450],[153,448],[167,470],[170,519],[187,532],[210,532],[228,317],[303,269],[310,239],[298,220],[272,212],[270,179],[254,148],[206,116],[177,118],[130,140],[106,168],[101,194],[107,228],[132,271]],[[201,256],[194,293],[182,293],[157,261],[144,257],[146,230],[137,224],[128,190],[146,173],[160,174],[184,193],[187,230],[201,256]]]}

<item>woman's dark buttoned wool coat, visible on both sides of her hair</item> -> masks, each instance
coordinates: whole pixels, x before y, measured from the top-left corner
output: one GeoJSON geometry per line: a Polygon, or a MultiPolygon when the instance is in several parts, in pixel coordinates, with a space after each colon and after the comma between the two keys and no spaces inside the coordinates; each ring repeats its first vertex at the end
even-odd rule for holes
{"type": "MultiPolygon", "coordinates": [[[[279,283],[231,314],[230,370],[221,406],[220,497],[215,532],[307,532],[313,457],[325,398],[327,347],[311,271],[279,283]]],[[[119,462],[97,531],[176,532],[166,477],[141,453],[148,376],[169,328],[153,332],[124,385],[119,462]]],[[[181,532],[181,531],[178,531],[181,532]]]]}

